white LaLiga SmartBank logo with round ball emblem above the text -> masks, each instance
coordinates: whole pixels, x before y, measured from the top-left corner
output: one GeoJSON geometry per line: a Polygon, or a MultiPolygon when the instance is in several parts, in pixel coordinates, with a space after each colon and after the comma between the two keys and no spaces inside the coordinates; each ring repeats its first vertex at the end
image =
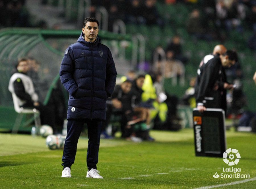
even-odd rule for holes
{"type": "MultiPolygon", "coordinates": [[[[228,164],[229,166],[237,165],[241,156],[238,150],[234,148],[228,148],[226,152],[223,153],[223,161],[228,164]]],[[[241,174],[241,168],[222,168],[222,172],[220,175],[216,172],[213,177],[214,178],[251,178],[249,173],[241,174]],[[231,174],[230,174],[231,173],[231,174]]]]}

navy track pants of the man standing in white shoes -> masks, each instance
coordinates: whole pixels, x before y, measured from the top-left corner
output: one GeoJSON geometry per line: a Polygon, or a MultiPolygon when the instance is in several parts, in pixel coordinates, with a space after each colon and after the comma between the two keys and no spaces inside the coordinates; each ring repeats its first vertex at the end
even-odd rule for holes
{"type": "Polygon", "coordinates": [[[88,128],[87,167],[97,169],[98,154],[100,147],[100,133],[102,121],[99,120],[68,120],[67,137],[65,140],[62,161],[64,167],[70,167],[75,162],[77,142],[84,123],[88,128]]]}

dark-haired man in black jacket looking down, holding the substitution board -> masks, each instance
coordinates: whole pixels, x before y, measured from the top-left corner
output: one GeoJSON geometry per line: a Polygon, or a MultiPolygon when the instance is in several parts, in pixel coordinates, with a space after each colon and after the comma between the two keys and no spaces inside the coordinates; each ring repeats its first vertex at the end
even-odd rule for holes
{"type": "Polygon", "coordinates": [[[226,82],[224,67],[231,67],[238,61],[235,51],[224,54],[205,56],[203,65],[197,70],[195,97],[197,109],[203,112],[206,108],[221,108],[226,111],[226,90],[233,85],[226,82]]]}

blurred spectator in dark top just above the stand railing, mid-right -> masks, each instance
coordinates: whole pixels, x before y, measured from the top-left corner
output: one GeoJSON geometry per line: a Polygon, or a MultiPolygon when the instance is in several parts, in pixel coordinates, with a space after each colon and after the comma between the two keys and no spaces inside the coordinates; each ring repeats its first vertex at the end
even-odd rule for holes
{"type": "Polygon", "coordinates": [[[173,53],[173,59],[180,60],[183,64],[187,63],[187,57],[182,54],[181,43],[179,35],[175,35],[172,41],[168,44],[166,52],[173,53]]]}

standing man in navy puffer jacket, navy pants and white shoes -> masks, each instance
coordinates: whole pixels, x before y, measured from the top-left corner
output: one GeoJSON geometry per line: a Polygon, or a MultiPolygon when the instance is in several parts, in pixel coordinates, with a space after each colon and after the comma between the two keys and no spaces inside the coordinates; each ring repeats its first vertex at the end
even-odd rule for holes
{"type": "Polygon", "coordinates": [[[69,92],[67,137],[63,150],[61,177],[71,177],[77,142],[84,123],[88,126],[87,175],[99,178],[96,164],[102,121],[106,120],[106,99],[112,95],[117,72],[109,48],[100,43],[99,22],[86,18],[77,43],[65,51],[59,75],[69,92]]]}

